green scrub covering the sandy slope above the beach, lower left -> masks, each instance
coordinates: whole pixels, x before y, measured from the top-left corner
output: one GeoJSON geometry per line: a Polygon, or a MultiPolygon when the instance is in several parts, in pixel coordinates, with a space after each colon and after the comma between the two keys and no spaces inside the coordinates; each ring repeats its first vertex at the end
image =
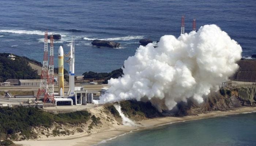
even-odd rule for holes
{"type": "MultiPolygon", "coordinates": [[[[21,132],[25,139],[33,138],[35,137],[31,132],[33,127],[44,126],[50,128],[54,122],[60,124],[86,123],[90,116],[91,114],[88,111],[54,115],[37,108],[0,108],[0,139],[16,139],[16,133],[18,132],[21,132]]],[[[60,135],[61,132],[59,129],[54,129],[53,134],[60,135]]]]}

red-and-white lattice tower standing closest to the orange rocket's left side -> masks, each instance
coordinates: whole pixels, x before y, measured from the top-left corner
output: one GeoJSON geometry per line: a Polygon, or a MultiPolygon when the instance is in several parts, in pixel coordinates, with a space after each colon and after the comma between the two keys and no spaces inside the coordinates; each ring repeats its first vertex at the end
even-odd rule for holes
{"type": "Polygon", "coordinates": [[[47,97],[44,98],[44,103],[49,99],[51,103],[54,102],[54,73],[53,73],[53,35],[50,36],[50,62],[48,74],[48,89],[47,97]]]}

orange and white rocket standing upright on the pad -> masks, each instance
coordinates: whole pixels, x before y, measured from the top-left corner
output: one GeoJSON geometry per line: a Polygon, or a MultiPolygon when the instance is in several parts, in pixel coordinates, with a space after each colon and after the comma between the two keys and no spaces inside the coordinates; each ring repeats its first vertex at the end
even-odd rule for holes
{"type": "Polygon", "coordinates": [[[64,55],[62,46],[59,47],[59,96],[64,95],[64,55]]]}

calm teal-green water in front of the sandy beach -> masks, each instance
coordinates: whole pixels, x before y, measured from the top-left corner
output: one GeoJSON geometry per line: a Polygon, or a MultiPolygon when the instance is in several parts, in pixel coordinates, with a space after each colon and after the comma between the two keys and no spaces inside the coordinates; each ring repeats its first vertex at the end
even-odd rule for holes
{"type": "Polygon", "coordinates": [[[255,146],[256,113],[168,124],[129,132],[97,146],[255,146]]]}

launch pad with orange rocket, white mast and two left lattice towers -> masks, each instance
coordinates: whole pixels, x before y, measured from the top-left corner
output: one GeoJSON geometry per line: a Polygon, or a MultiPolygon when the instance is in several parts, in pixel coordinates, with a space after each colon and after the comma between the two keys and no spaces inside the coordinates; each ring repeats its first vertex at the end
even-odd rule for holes
{"type": "Polygon", "coordinates": [[[64,54],[62,46],[60,46],[58,50],[59,93],[55,94],[53,84],[53,35],[50,37],[50,61],[48,67],[48,32],[45,32],[44,62],[37,100],[39,99],[39,96],[44,95],[44,103],[51,103],[55,106],[86,105],[87,103],[93,103],[93,96],[89,94],[90,97],[88,101],[87,91],[85,91],[82,86],[75,87],[75,42],[73,38],[69,46],[70,50],[67,54],[64,54]],[[64,57],[67,57],[68,59],[65,60],[64,57]],[[69,88],[67,93],[64,93],[64,62],[69,64],[69,88]]]}

